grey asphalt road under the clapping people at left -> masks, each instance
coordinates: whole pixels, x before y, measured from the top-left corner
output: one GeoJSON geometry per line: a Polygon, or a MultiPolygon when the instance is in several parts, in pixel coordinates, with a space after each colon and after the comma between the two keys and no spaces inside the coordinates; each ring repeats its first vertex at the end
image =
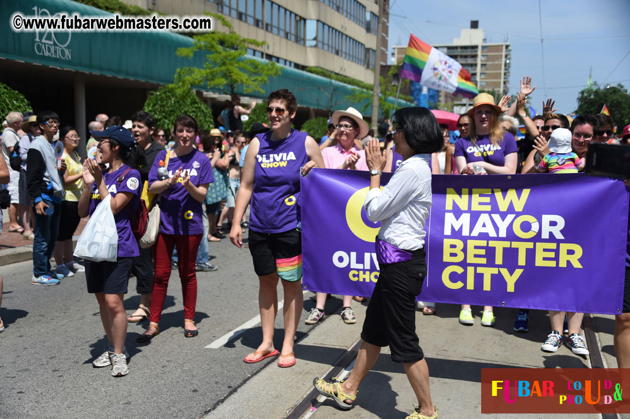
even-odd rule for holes
{"type": "MultiPolygon", "coordinates": [[[[129,325],[130,372],[121,378],[91,365],[102,352],[105,336],[84,274],[66,278],[59,286],[33,286],[31,262],[3,266],[0,316],[6,331],[0,334],[0,418],[196,418],[266,363],[275,362],[243,363],[260,343],[260,325],[219,349],[205,348],[258,315],[258,285],[249,251],[222,240],[210,243],[210,254],[219,271],[198,272],[198,337],[183,336],[181,288],[174,273],[160,335],[150,344],[137,344],[135,338],[146,323],[129,325]]],[[[131,313],[139,303],[135,279],[129,289],[125,308],[131,313]]],[[[282,288],[278,290],[282,299],[282,288]]],[[[340,303],[329,299],[327,308],[334,310],[340,303]]],[[[312,306],[307,300],[298,338],[312,329],[303,322],[312,306]]],[[[284,336],[280,319],[278,349],[284,336]]]]}

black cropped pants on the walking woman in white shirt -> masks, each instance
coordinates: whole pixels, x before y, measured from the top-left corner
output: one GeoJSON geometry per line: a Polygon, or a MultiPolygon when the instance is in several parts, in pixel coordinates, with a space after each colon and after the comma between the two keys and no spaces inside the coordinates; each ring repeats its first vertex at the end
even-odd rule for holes
{"type": "Polygon", "coordinates": [[[361,338],[384,347],[392,361],[416,362],[425,357],[416,335],[416,296],[427,276],[425,251],[411,250],[413,258],[397,264],[380,264],[381,274],[365,312],[361,338]]]}

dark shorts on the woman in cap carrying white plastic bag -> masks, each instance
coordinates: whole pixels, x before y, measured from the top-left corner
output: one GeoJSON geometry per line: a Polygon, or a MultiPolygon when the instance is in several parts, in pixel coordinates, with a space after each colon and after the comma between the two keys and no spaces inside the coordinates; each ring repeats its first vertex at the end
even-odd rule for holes
{"type": "Polygon", "coordinates": [[[119,257],[116,262],[92,262],[84,259],[88,293],[127,294],[133,260],[132,257],[119,257]]]}

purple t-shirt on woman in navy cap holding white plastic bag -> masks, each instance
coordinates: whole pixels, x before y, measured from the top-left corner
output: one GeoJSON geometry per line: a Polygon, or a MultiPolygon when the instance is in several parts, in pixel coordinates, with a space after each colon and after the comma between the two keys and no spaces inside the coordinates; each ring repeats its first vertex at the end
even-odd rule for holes
{"type": "MultiPolygon", "coordinates": [[[[127,169],[129,169],[129,166],[123,164],[112,173],[103,171],[105,186],[107,186],[107,190],[112,196],[112,199],[119,192],[134,194],[129,204],[127,204],[127,207],[114,215],[116,230],[118,232],[118,257],[134,257],[140,255],[138,242],[135,241],[134,233],[131,231],[129,218],[135,214],[140,204],[139,196],[142,191],[142,185],[140,184],[140,173],[135,169],[129,170],[129,172],[125,174],[125,177],[120,179],[120,184],[118,184],[118,177],[121,177],[123,172],[127,169]]],[[[89,201],[89,215],[94,213],[96,206],[101,202],[101,194],[98,192],[98,187],[96,187],[95,183],[92,184],[91,198],[92,199],[89,201]]]]}

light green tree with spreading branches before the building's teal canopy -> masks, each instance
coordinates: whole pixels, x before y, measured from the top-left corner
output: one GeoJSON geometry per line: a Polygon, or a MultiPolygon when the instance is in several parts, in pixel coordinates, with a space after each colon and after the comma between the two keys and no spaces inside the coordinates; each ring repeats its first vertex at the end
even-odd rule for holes
{"type": "Polygon", "coordinates": [[[280,75],[280,69],[272,61],[261,62],[246,57],[248,47],[262,47],[266,42],[244,38],[234,31],[234,26],[221,14],[206,13],[214,18],[214,25],[221,23],[227,31],[213,30],[193,36],[192,47],[178,48],[177,55],[192,58],[195,52],[203,52],[203,68],[182,67],[175,74],[178,86],[203,86],[233,94],[241,87],[243,92],[264,93],[260,87],[270,77],[280,75]]]}

